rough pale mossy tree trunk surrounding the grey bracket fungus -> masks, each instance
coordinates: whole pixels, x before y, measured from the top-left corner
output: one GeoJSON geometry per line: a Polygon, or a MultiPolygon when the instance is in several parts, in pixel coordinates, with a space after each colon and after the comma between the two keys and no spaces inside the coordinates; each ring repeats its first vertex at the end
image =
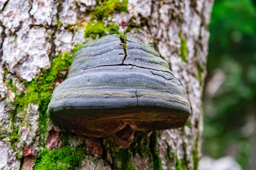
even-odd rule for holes
{"type": "Polygon", "coordinates": [[[201,96],[213,0],[1,0],[0,169],[192,170],[201,156],[201,96]],[[92,138],[46,110],[86,40],[132,32],[154,45],[186,88],[179,129],[92,138]],[[127,147],[129,142],[130,147],[127,147]],[[125,141],[128,141],[125,143],[125,141]]]}

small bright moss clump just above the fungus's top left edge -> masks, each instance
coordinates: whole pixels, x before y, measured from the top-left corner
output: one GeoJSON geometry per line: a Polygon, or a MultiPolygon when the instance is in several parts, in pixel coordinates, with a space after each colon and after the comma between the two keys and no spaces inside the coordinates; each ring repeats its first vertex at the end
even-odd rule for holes
{"type": "Polygon", "coordinates": [[[119,27],[115,23],[108,23],[105,27],[105,23],[102,21],[94,22],[90,20],[87,22],[87,26],[84,30],[84,39],[87,37],[92,37],[96,39],[97,34],[101,37],[107,34],[118,34],[119,27]]]}

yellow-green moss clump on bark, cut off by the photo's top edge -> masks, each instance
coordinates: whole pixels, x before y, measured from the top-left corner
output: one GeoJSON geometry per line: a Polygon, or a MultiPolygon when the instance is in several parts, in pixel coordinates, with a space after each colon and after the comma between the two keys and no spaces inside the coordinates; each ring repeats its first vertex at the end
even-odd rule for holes
{"type": "Polygon", "coordinates": [[[114,12],[127,12],[127,4],[128,0],[103,0],[101,6],[97,6],[93,10],[93,14],[97,17],[97,19],[102,19],[103,17],[108,18],[109,15],[114,12]]]}

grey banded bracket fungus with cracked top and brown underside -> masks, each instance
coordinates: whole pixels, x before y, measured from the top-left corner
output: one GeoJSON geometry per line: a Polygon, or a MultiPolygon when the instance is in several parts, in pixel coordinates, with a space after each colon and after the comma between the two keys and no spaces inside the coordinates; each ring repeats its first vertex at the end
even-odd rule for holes
{"type": "Polygon", "coordinates": [[[71,132],[104,137],[134,130],[181,127],[190,104],[181,82],[154,48],[127,34],[87,42],[68,78],[53,92],[47,113],[71,132]]]}

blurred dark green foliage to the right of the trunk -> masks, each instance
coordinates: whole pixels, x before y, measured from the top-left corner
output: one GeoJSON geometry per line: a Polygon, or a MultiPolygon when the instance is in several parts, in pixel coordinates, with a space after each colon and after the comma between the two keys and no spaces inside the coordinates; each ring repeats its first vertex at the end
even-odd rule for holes
{"type": "Polygon", "coordinates": [[[256,2],[215,0],[209,30],[203,154],[256,168],[256,2]]]}

